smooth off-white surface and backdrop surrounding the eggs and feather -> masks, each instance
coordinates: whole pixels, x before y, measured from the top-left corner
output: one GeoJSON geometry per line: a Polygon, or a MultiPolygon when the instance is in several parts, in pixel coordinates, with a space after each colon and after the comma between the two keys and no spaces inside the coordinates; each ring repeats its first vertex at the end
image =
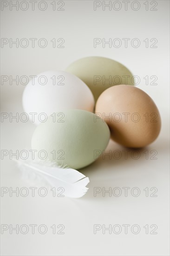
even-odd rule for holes
{"type": "MultiPolygon", "coordinates": [[[[51,1],[48,1],[50,3],[51,1]]],[[[91,166],[82,169],[89,177],[89,191],[81,199],[53,197],[48,190],[46,197],[38,193],[32,197],[1,197],[1,224],[45,224],[45,235],[13,234],[4,231],[1,235],[1,255],[4,256],[167,256],[169,255],[169,1],[157,1],[157,11],[145,11],[145,1],[140,1],[141,8],[133,11],[93,10],[93,1],[65,1],[65,11],[52,11],[48,4],[46,11],[35,8],[34,11],[1,12],[2,38],[46,38],[46,48],[1,48],[2,75],[36,75],[45,70],[65,69],[72,61],[85,56],[104,56],[121,62],[134,75],[140,77],[138,88],[143,89],[157,104],[162,117],[162,130],[154,143],[140,151],[140,158],[134,160],[128,155],[124,159],[121,146],[110,142],[107,150],[121,150],[122,157],[116,160],[100,157],[91,166]],[[53,48],[50,40],[65,39],[65,48],[53,48]],[[93,47],[94,38],[138,38],[140,47],[93,47]],[[157,48],[146,48],[144,40],[157,39],[157,48]],[[157,85],[146,85],[144,77],[157,76],[157,85]],[[146,160],[145,150],[149,152],[146,160]],[[151,160],[154,151],[157,159],[151,160]],[[119,187],[122,195],[109,196],[102,193],[94,196],[94,187],[112,189],[119,187]],[[124,196],[123,187],[129,187],[128,196],[124,196]],[[140,195],[131,195],[131,189],[138,187],[140,195]],[[144,189],[149,188],[149,195],[157,188],[157,197],[145,196],[144,189]],[[65,234],[53,235],[53,224],[65,225],[65,234]],[[94,224],[137,224],[139,234],[109,234],[102,230],[93,232],[94,224]],[[157,234],[145,234],[144,226],[157,225],[157,234]]],[[[150,4],[150,1],[149,1],[150,4]]],[[[122,5],[123,6],[123,5],[122,5]]],[[[149,5],[150,7],[150,5],[149,5]]],[[[131,42],[131,41],[130,41],[131,42]]],[[[123,41],[122,41],[123,43],[123,41]]],[[[153,42],[152,42],[153,43],[153,42]]],[[[153,80],[150,80],[153,81],[153,80]]],[[[24,86],[1,85],[1,112],[23,113],[21,96],[24,86]]],[[[23,150],[30,148],[30,141],[35,129],[31,122],[1,123],[1,149],[23,150]]],[[[8,157],[1,161],[2,187],[43,187],[41,181],[29,182],[21,179],[20,172],[8,157]]],[[[45,185],[44,185],[45,186],[45,185]]],[[[30,191],[30,190],[29,190],[30,191]]],[[[115,193],[118,191],[115,191],[115,193]]],[[[134,191],[135,193],[136,191],[134,191]]],[[[24,193],[24,191],[23,191],[24,193]]],[[[131,228],[131,227],[130,227],[131,228]]],[[[59,230],[59,229],[57,229],[59,230]]],[[[153,230],[152,229],[149,229],[153,230]]]]}

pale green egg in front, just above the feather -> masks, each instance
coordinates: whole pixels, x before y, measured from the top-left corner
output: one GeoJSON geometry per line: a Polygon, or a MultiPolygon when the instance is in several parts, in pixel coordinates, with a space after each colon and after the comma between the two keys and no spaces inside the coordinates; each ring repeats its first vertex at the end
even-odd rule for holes
{"type": "Polygon", "coordinates": [[[32,149],[46,151],[46,160],[80,169],[94,162],[105,150],[110,130],[97,115],[70,109],[39,124],[32,137],[32,149]]]}

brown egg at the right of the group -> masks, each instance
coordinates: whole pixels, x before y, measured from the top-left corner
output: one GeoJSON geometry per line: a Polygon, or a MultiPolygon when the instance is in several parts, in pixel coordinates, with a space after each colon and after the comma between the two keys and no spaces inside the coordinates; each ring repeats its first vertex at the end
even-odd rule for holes
{"type": "Polygon", "coordinates": [[[148,94],[131,85],[106,89],[98,98],[95,113],[111,130],[111,138],[128,148],[142,148],[159,135],[161,118],[148,94]]]}

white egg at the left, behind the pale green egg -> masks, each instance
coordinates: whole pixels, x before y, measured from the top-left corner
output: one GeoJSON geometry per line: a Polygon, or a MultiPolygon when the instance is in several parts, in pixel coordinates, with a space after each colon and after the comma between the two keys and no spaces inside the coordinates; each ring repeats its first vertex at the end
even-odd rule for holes
{"type": "Polygon", "coordinates": [[[33,77],[26,85],[23,108],[35,124],[60,110],[94,111],[94,98],[88,86],[65,71],[47,71],[33,77]]]}

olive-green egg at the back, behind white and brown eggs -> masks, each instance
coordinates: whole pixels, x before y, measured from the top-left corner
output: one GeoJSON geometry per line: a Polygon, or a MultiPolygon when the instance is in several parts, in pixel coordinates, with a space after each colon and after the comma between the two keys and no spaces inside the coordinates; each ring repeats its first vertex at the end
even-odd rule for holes
{"type": "Polygon", "coordinates": [[[104,57],[92,56],[74,61],[66,71],[75,74],[91,89],[95,101],[105,89],[119,84],[133,85],[133,75],[124,65],[104,57]]]}

